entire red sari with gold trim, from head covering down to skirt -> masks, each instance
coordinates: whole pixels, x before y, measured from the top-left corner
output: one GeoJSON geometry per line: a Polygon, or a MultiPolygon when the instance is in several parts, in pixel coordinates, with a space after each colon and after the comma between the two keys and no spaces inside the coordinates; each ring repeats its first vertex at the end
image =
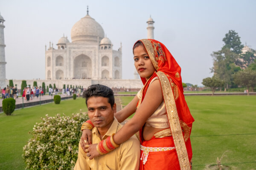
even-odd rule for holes
{"type": "Polygon", "coordinates": [[[140,130],[140,143],[142,147],[148,148],[175,148],[160,152],[149,152],[144,164],[145,153],[141,150],[142,158],[140,161],[140,170],[190,170],[192,147],[189,136],[194,119],[190,114],[183,95],[180,66],[161,42],[151,39],[143,39],[140,41],[143,43],[156,71],[148,81],[141,77],[144,87],[142,98],[138,102],[137,108],[140,107],[141,102],[143,102],[151,80],[154,77],[158,77],[172,133],[172,136],[163,138],[155,138],[155,136],[153,136],[149,141],[145,141],[143,139],[142,128],[140,130]]]}

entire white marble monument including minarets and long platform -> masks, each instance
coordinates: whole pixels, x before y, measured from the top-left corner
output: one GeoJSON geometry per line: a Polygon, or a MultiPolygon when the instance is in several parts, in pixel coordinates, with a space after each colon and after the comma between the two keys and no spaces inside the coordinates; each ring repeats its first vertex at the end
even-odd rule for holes
{"type": "MultiPolygon", "coordinates": [[[[6,79],[3,17],[0,16],[0,86],[9,84],[6,79]]],[[[148,38],[154,39],[154,21],[150,17],[148,38]]],[[[45,79],[36,80],[38,85],[54,84],[57,88],[66,85],[81,85],[88,87],[92,84],[107,85],[111,88],[141,88],[143,86],[136,69],[134,79],[122,79],[122,43],[117,50],[113,49],[111,40],[105,36],[102,26],[87,15],[77,21],[71,28],[71,42],[68,37],[58,40],[57,49],[53,43],[45,45],[45,79]]],[[[35,80],[26,80],[32,85],[35,80]]],[[[20,88],[21,80],[13,80],[20,88]]]]}

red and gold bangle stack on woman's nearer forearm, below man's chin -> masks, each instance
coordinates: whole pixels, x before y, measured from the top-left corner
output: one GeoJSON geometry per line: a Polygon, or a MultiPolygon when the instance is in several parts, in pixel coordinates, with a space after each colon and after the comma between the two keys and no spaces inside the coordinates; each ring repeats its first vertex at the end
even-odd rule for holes
{"type": "Polygon", "coordinates": [[[116,144],[113,140],[113,136],[115,133],[113,133],[111,136],[108,136],[107,139],[102,140],[97,144],[97,151],[100,155],[106,154],[111,152],[112,150],[116,149],[116,147],[119,147],[119,144],[116,144]]]}

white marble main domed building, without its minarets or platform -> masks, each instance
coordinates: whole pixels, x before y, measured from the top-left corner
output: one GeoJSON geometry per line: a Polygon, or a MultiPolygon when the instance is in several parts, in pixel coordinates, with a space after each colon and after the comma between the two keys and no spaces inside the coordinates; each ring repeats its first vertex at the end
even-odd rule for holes
{"type": "Polygon", "coordinates": [[[88,14],[45,52],[46,79],[122,79],[122,44],[113,50],[102,26],[88,14]]]}

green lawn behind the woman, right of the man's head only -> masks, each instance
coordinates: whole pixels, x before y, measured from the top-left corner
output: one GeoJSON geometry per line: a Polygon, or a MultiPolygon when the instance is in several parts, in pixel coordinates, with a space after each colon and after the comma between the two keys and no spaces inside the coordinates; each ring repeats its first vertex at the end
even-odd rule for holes
{"type": "MultiPolygon", "coordinates": [[[[191,133],[193,169],[216,164],[217,157],[227,151],[221,163],[233,170],[255,170],[256,96],[185,97],[195,119],[191,133]]],[[[122,96],[121,100],[127,105],[132,98],[122,96]]]]}

